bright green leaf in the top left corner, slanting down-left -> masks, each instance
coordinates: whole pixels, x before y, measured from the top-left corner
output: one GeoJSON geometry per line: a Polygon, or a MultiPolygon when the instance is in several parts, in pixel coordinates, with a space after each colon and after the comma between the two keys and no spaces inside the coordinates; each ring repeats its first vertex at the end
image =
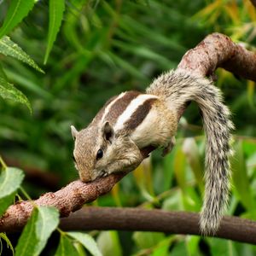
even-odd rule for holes
{"type": "Polygon", "coordinates": [[[34,0],[10,1],[8,13],[3,22],[3,26],[0,28],[0,38],[2,38],[3,35],[8,34],[15,26],[17,26],[20,21],[26,17],[34,4],[34,0]]]}

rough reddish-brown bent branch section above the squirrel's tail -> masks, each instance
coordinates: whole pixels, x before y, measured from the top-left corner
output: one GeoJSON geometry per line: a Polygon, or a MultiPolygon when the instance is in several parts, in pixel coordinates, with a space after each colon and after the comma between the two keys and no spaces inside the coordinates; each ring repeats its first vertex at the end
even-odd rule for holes
{"type": "Polygon", "coordinates": [[[202,76],[212,75],[218,67],[256,81],[256,54],[220,33],[212,33],[189,49],[177,66],[202,76]]]}

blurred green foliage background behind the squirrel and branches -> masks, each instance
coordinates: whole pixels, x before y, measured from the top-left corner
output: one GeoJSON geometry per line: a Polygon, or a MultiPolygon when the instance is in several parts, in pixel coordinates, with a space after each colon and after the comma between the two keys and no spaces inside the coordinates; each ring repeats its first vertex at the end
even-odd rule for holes
{"type": "MultiPolygon", "coordinates": [[[[0,2],[0,22],[8,6],[8,1],[0,2]]],[[[247,0],[67,0],[60,32],[44,65],[49,6],[48,1],[38,1],[9,36],[45,73],[0,55],[8,80],[32,105],[30,114],[24,105],[0,98],[0,154],[9,166],[26,172],[24,186],[33,198],[61,188],[79,178],[70,125],[82,129],[109,97],[121,91],[144,90],[212,32],[223,32],[255,50],[255,24],[256,11],[247,0]]],[[[256,218],[255,84],[224,70],[217,76],[236,125],[228,214],[256,218]]],[[[92,204],[198,212],[204,149],[201,116],[191,104],[172,154],[163,159],[160,151],[154,152],[111,194],[92,204]]],[[[256,255],[253,246],[197,236],[93,234],[105,255],[256,255]]]]}

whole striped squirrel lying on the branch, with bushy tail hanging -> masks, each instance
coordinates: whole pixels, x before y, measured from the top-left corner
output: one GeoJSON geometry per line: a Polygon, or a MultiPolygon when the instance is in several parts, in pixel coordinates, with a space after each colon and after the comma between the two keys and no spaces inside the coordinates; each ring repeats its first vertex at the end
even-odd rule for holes
{"type": "Polygon", "coordinates": [[[148,146],[172,150],[178,113],[186,102],[201,108],[207,135],[206,189],[200,227],[204,235],[218,230],[229,198],[230,121],[221,92],[209,79],[184,70],[160,75],[146,93],[126,91],[113,96],[86,129],[71,126],[73,160],[83,182],[113,172],[130,172],[148,146]]]}

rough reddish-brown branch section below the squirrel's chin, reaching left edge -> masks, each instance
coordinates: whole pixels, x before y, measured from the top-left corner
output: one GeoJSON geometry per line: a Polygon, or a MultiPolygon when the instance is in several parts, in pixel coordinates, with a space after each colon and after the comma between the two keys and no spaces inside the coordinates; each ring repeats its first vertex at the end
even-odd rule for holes
{"type": "Polygon", "coordinates": [[[34,205],[56,207],[61,217],[67,217],[83,207],[84,203],[95,201],[100,195],[108,193],[124,176],[125,174],[119,173],[99,178],[92,183],[77,180],[55,193],[41,195],[38,200],[18,202],[10,206],[0,218],[0,232],[20,231],[30,217],[34,205]]]}

